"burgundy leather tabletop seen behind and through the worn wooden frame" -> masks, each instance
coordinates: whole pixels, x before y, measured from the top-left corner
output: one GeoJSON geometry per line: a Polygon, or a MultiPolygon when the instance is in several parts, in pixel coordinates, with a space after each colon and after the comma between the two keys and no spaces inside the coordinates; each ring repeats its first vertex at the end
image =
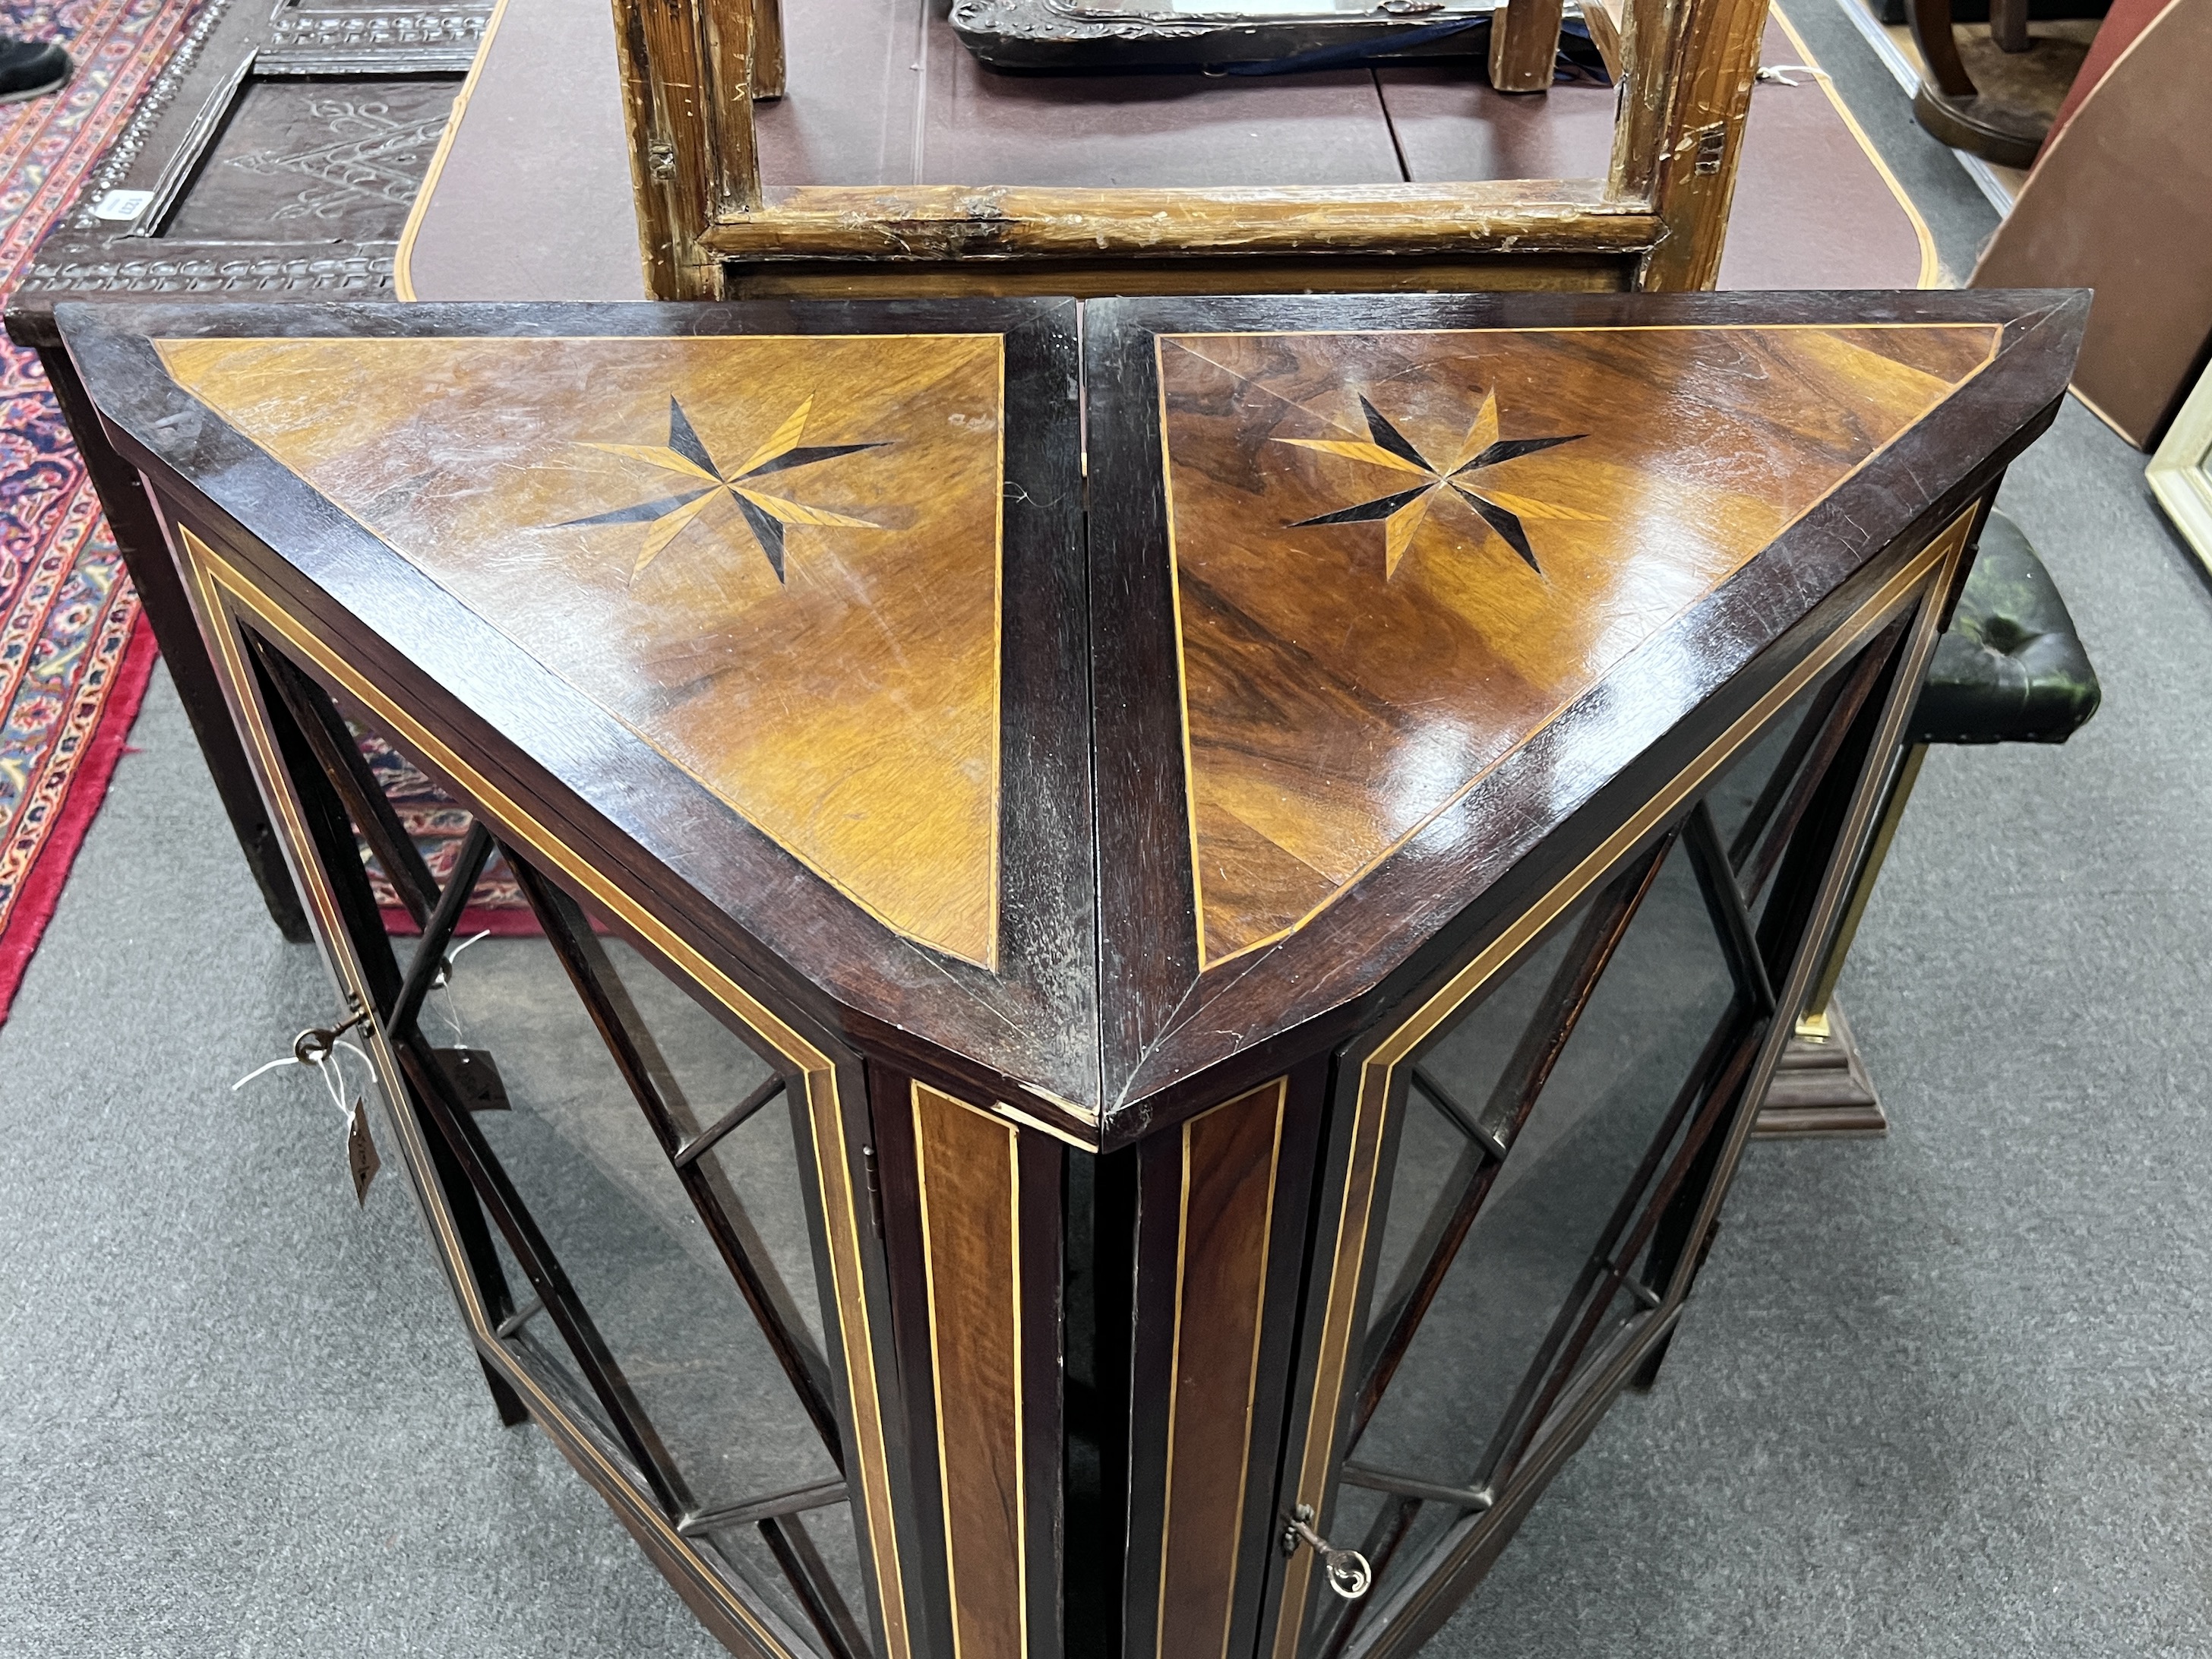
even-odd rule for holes
{"type": "MultiPolygon", "coordinates": [[[[1380,184],[1601,177],[1615,93],[1464,69],[995,75],[942,18],[794,0],[770,184],[1380,184]]],[[[1809,62],[1770,20],[1763,58],[1809,62]]],[[[644,299],[606,0],[507,0],[398,254],[407,299],[644,299]],[[560,86],[557,97],[546,88],[560,86]],[[557,188],[546,181],[557,179],[557,188]]],[[[1761,84],[1723,288],[1913,288],[1933,241],[1825,82],[1761,84]]]]}

